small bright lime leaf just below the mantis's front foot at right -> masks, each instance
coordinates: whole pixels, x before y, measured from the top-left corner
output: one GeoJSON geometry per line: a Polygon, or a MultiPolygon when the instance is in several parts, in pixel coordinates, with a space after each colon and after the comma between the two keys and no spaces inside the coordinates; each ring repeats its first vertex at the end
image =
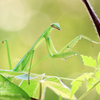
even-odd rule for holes
{"type": "Polygon", "coordinates": [[[93,60],[92,57],[88,57],[84,55],[81,55],[81,56],[82,56],[84,65],[94,67],[94,68],[97,66],[96,60],[93,60]]]}

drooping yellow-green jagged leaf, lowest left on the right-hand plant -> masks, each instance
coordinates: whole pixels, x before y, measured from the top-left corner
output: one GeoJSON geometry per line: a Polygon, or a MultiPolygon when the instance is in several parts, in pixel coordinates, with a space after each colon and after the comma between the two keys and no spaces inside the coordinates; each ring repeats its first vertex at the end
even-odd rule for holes
{"type": "Polygon", "coordinates": [[[74,81],[72,81],[70,99],[75,94],[75,92],[79,89],[79,87],[81,86],[82,82],[88,80],[90,77],[92,77],[92,75],[93,75],[93,73],[84,73],[83,75],[81,75],[80,77],[78,77],[74,81]]]}

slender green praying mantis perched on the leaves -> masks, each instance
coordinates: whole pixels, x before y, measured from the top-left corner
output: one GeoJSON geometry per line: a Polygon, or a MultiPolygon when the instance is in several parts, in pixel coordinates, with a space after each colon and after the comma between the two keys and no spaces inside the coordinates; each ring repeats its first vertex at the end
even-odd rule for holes
{"type": "MultiPolygon", "coordinates": [[[[85,2],[86,0],[82,0],[85,2]]],[[[83,60],[81,55],[76,51],[71,51],[72,48],[76,45],[76,43],[81,39],[88,40],[89,42],[99,44],[98,42],[93,41],[92,39],[88,38],[87,36],[80,35],[74,38],[72,41],[70,41],[67,45],[65,45],[59,52],[55,49],[53,42],[49,36],[50,32],[53,29],[61,30],[59,23],[52,23],[43,33],[42,35],[37,39],[37,41],[32,45],[32,47],[27,51],[27,53],[22,57],[22,59],[18,62],[18,64],[12,69],[11,60],[10,60],[10,53],[9,53],[9,46],[7,40],[2,40],[0,43],[5,43],[7,48],[7,55],[8,55],[8,63],[9,63],[9,69],[13,71],[25,71],[27,67],[29,66],[29,74],[32,64],[32,58],[34,55],[35,50],[38,48],[38,46],[45,41],[46,47],[48,50],[48,54],[51,58],[62,58],[65,60],[68,57],[71,57],[73,55],[77,55],[81,63],[83,64],[83,60]],[[29,65],[30,64],[30,65],[29,65]]]]}

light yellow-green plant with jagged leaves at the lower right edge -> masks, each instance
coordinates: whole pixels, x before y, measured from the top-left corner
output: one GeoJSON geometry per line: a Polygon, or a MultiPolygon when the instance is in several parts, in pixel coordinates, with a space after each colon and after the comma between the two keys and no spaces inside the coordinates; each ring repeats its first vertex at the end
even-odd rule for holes
{"type": "Polygon", "coordinates": [[[92,57],[84,55],[82,55],[82,58],[84,65],[94,68],[94,72],[84,73],[71,83],[71,96],[79,89],[82,83],[86,84],[87,91],[78,100],[82,100],[94,88],[100,94],[100,53],[98,54],[97,61],[93,60],[92,57]]]}

